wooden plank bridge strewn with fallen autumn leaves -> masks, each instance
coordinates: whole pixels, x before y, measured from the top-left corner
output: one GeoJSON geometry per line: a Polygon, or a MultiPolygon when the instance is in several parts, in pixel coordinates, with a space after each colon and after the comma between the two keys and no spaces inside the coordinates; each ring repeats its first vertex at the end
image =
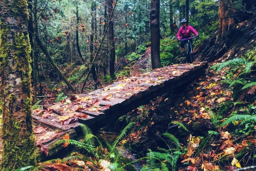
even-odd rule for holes
{"type": "Polygon", "coordinates": [[[164,92],[195,80],[206,67],[207,62],[200,62],[158,68],[87,94],[44,105],[45,111],[33,112],[32,117],[34,122],[59,129],[63,134],[75,134],[81,123],[90,128],[102,128],[164,92]]]}

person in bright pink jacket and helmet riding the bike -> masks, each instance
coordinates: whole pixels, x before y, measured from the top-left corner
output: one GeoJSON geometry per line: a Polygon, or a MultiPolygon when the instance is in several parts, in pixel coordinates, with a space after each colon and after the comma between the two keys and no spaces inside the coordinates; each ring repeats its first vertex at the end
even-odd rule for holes
{"type": "MultiPolygon", "coordinates": [[[[178,39],[178,42],[180,42],[180,47],[181,47],[181,55],[183,57],[186,56],[186,53],[185,53],[185,41],[182,40],[182,39],[187,39],[187,38],[190,38],[191,37],[191,32],[196,35],[196,37],[199,37],[198,33],[196,32],[196,30],[189,26],[188,23],[187,23],[187,19],[182,19],[181,20],[181,27],[177,33],[177,39],[178,39]]],[[[192,41],[192,40],[191,40],[192,41]]]]}

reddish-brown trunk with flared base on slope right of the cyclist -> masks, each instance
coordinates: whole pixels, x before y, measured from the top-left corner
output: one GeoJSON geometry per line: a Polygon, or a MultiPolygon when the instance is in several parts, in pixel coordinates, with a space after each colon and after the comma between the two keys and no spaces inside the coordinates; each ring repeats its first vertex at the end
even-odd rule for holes
{"type": "Polygon", "coordinates": [[[220,57],[230,46],[230,38],[233,37],[230,27],[234,24],[234,8],[232,0],[219,1],[219,31],[214,46],[207,56],[220,57]]]}

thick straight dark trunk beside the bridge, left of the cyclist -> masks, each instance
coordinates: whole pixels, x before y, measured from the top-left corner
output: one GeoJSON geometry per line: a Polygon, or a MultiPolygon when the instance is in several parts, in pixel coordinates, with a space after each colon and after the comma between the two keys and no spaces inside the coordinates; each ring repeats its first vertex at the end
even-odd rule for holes
{"type": "Polygon", "coordinates": [[[151,30],[151,63],[152,69],[162,67],[160,61],[160,0],[151,0],[150,30],[151,30]]]}

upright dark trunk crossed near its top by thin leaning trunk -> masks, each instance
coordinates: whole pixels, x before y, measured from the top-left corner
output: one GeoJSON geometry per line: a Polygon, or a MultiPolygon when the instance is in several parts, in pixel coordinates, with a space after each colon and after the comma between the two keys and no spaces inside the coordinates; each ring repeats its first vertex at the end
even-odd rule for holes
{"type": "MultiPolygon", "coordinates": [[[[110,18],[113,12],[113,0],[108,0],[108,18],[110,18]]],[[[109,74],[112,80],[115,79],[115,58],[116,58],[116,49],[114,41],[114,22],[113,18],[109,21],[109,41],[110,41],[110,61],[109,61],[109,74]]]]}

